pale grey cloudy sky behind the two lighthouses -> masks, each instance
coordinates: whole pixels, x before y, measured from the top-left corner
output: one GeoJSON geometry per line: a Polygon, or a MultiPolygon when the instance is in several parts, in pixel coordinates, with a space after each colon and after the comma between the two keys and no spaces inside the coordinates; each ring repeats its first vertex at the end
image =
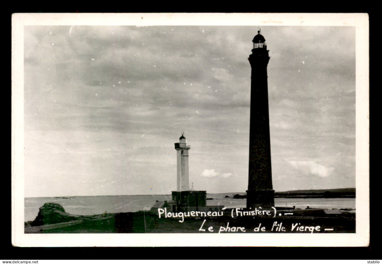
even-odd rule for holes
{"type": "MultiPolygon", "coordinates": [[[[25,197],[248,185],[255,26],[25,26],[25,197]]],[[[355,28],[262,26],[275,191],[355,187],[355,28]]]]}

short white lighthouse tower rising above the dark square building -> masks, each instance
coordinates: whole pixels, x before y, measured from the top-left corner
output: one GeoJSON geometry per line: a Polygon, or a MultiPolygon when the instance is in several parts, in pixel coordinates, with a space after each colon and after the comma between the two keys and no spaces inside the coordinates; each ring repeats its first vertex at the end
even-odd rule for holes
{"type": "Polygon", "coordinates": [[[191,148],[186,145],[186,138],[184,133],[182,133],[179,138],[179,143],[174,143],[176,149],[176,191],[188,191],[190,189],[189,185],[189,175],[188,175],[188,150],[191,148]]]}

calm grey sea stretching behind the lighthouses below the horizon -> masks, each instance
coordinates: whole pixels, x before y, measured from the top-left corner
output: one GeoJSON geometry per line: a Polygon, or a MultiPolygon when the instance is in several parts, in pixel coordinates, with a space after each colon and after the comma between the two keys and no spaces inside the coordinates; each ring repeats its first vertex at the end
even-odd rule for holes
{"type": "MultiPolygon", "coordinates": [[[[246,199],[233,199],[233,194],[207,194],[207,206],[223,205],[227,208],[245,208],[246,199]],[[226,198],[229,196],[230,198],[226,198]]],[[[170,201],[171,195],[112,195],[24,198],[24,221],[33,221],[39,208],[47,202],[60,204],[65,212],[75,215],[95,215],[150,210],[156,201],[170,201]]],[[[275,198],[275,207],[305,209],[349,208],[355,211],[355,198],[275,198]]]]}

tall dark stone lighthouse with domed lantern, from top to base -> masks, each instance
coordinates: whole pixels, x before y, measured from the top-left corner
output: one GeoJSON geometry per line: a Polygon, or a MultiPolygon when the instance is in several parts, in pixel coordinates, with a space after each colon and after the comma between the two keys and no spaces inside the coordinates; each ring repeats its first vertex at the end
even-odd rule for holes
{"type": "Polygon", "coordinates": [[[249,170],[247,208],[274,206],[270,162],[267,65],[269,50],[257,31],[253,38],[251,64],[251,121],[249,128],[249,170]]]}

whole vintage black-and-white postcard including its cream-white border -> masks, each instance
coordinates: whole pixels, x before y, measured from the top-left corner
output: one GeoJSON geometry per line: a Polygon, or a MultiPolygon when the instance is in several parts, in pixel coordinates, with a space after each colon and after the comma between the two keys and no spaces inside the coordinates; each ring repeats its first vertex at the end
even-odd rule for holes
{"type": "Polygon", "coordinates": [[[368,245],[367,14],[13,22],[13,245],[368,245]]]}

